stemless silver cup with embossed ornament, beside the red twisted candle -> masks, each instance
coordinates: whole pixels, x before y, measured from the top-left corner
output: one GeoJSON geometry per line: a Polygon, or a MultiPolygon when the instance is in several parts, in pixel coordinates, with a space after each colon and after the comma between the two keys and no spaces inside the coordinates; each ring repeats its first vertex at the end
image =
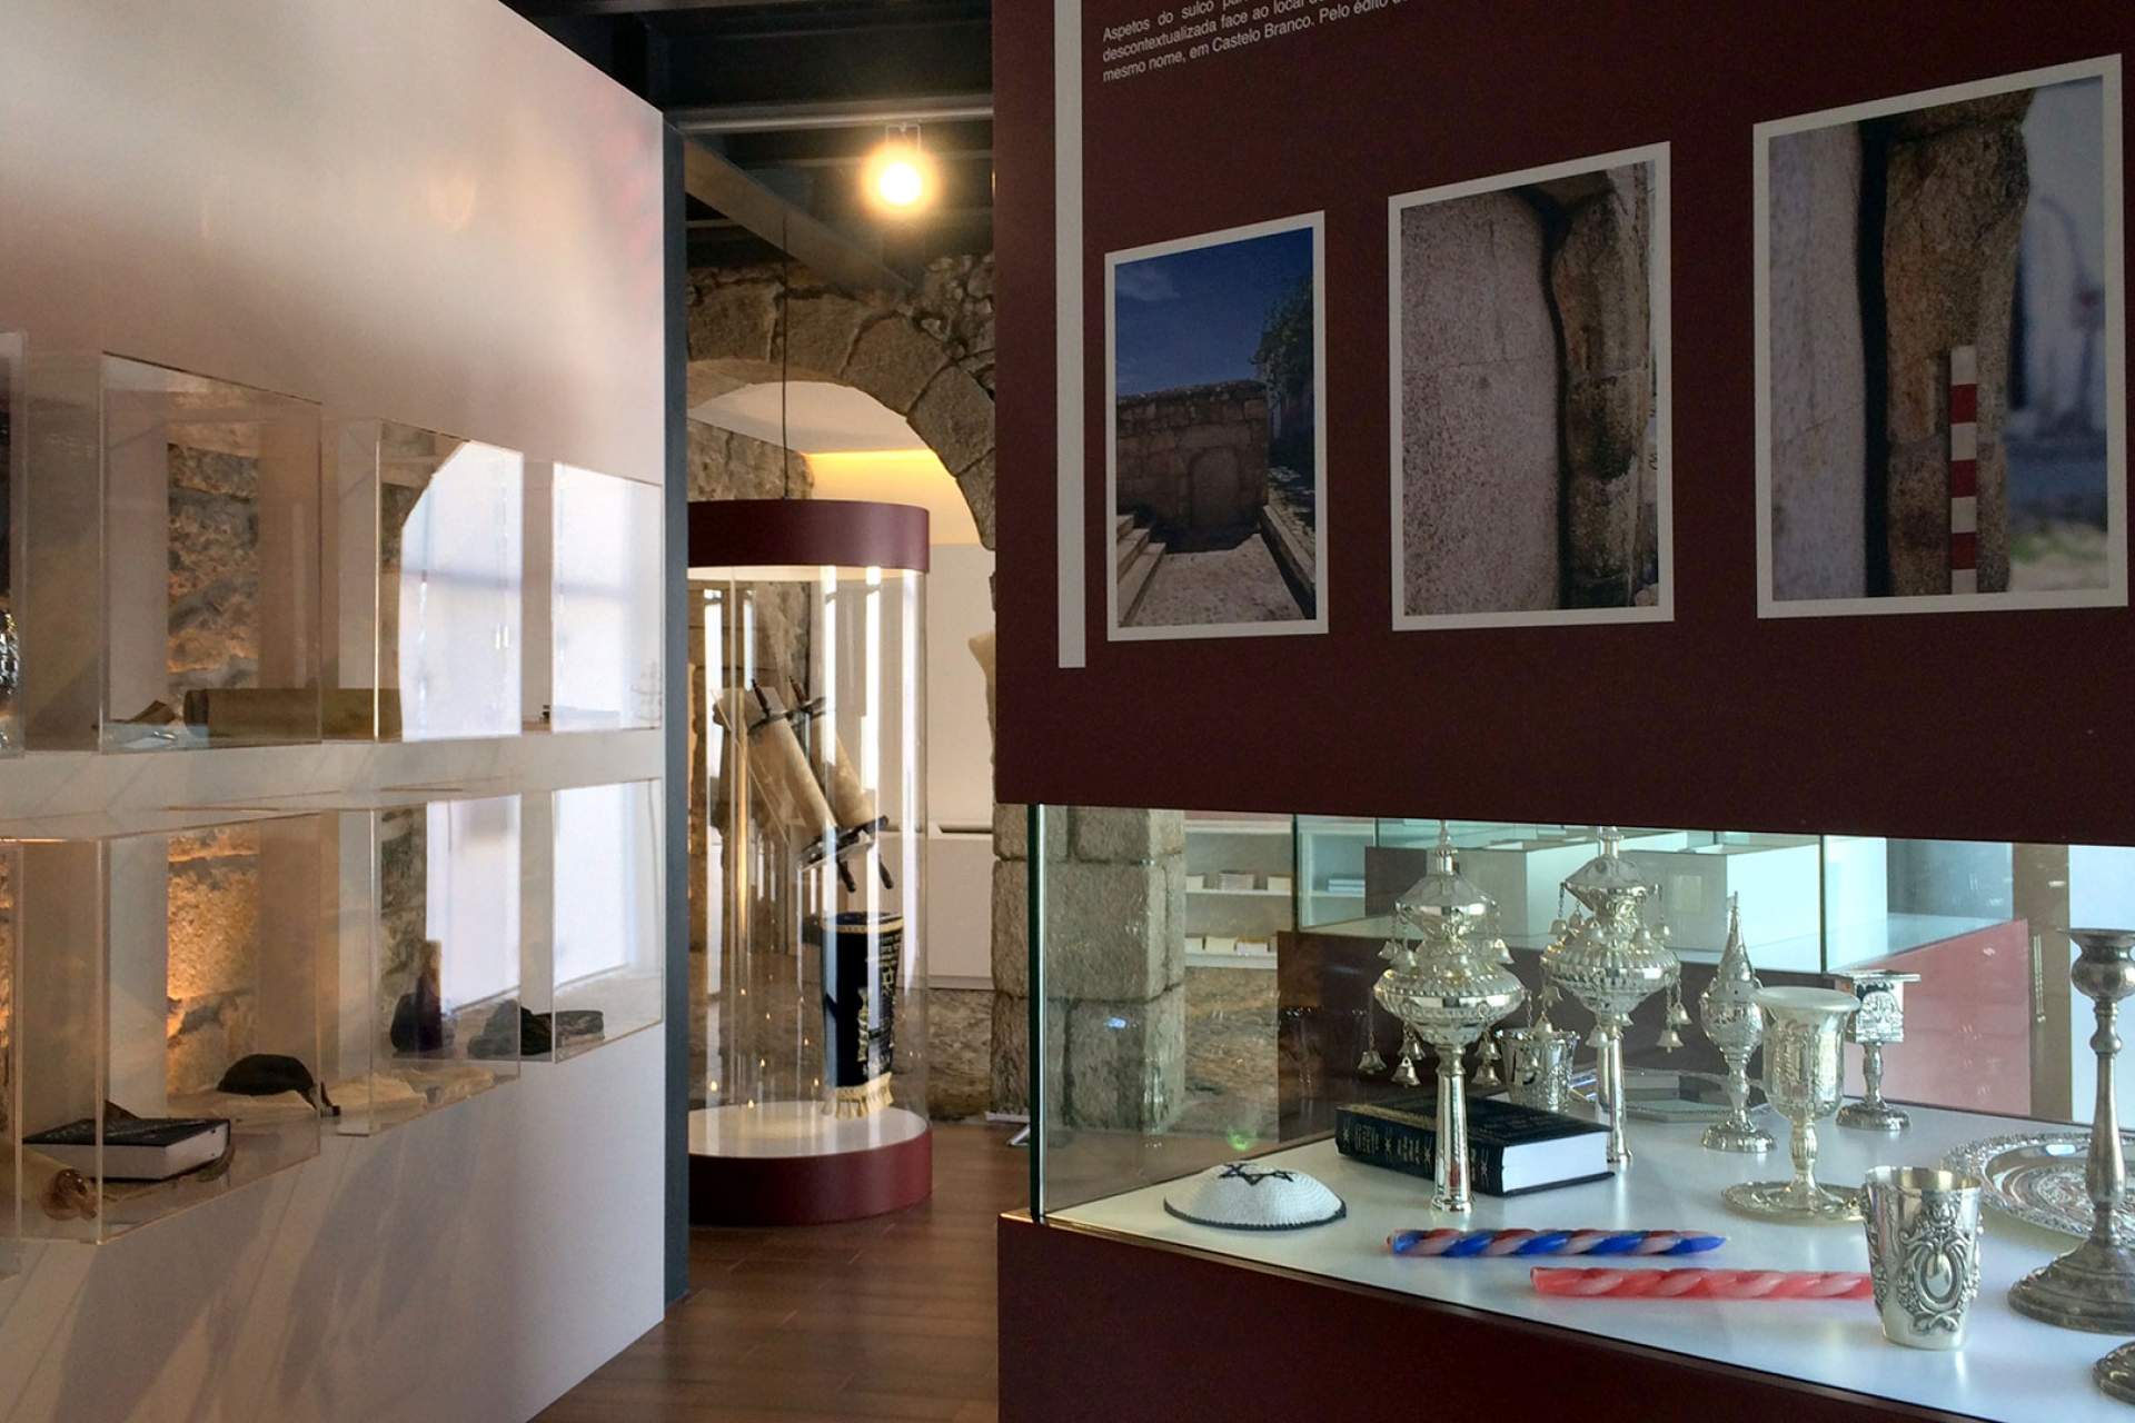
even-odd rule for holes
{"type": "Polygon", "coordinates": [[[1883,1338],[1907,1348],[1962,1348],[1979,1295],[1977,1176],[1877,1167],[1862,1182],[1868,1280],[1883,1338]]]}

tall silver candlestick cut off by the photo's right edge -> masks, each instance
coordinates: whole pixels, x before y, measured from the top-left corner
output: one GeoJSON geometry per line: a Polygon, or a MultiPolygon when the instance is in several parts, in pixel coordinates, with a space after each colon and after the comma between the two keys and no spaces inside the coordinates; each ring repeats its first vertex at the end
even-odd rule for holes
{"type": "Polygon", "coordinates": [[[2120,1101],[2114,1092],[2120,1001],[2135,992],[2135,930],[2071,928],[2069,939],[2077,949],[2069,981],[2099,1005],[2099,1030],[2090,1035],[2090,1050],[2099,1054],[2099,1099],[2090,1116],[2090,1161],[2084,1167],[2090,1237],[2011,1284],[2009,1308],[2062,1329],[2135,1333],[2135,1240],[2118,1210],[2126,1193],[2126,1158],[2120,1152],[2120,1101]]]}

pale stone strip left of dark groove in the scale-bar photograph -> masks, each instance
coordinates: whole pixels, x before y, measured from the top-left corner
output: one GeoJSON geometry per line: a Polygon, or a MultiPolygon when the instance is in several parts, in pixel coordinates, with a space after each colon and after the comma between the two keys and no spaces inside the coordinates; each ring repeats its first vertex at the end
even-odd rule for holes
{"type": "Polygon", "coordinates": [[[1783,134],[1772,183],[1772,595],[1868,593],[1868,375],[1853,124],[1783,134]]]}

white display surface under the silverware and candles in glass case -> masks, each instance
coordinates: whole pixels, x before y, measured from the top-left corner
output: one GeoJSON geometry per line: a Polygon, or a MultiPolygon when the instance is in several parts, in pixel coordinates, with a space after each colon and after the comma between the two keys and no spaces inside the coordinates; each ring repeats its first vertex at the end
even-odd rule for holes
{"type": "MultiPolygon", "coordinates": [[[[1909,1107],[1913,1126],[1900,1137],[1866,1135],[1825,1124],[1817,1137],[1819,1178],[1857,1182],[1872,1165],[1934,1165],[1979,1137],[2035,1131],[2035,1122],[1909,1107]]],[[[1766,1114],[1768,1116],[1768,1114],[1766,1114]]],[[[1772,1122],[1783,1135],[1785,1126],[1772,1122]]],[[[1467,1218],[1430,1210],[1430,1182],[1345,1161],[1332,1139],[1262,1156],[1266,1165],[1309,1171],[1349,1205],[1332,1225],[1304,1231],[1219,1231],[1164,1212],[1166,1186],[1048,1212],[1048,1220],[1097,1227],[1253,1265],[1275,1265],[1347,1284],[1396,1291],[1580,1333],[1644,1344],[1693,1359],[1764,1370],[1832,1389],[1947,1408],[1996,1423],[2107,1423],[2129,1410],[2101,1395],[2090,1365],[2116,1344],[2105,1333],[2077,1333],[2022,1318],[2009,1308],[2009,1284],[2075,1242],[2018,1225],[1988,1210],[1981,1246],[1981,1291],[1962,1353],[1898,1348],[1883,1340],[1875,1306],[1825,1304],[1693,1304],[1629,1299],[1546,1299],[1527,1272],[1533,1259],[1439,1261],[1388,1254],[1398,1229],[1492,1227],[1623,1227],[1719,1231],[1727,1244],[1697,1263],[1749,1269],[1866,1269],[1860,1225],[1808,1227],[1749,1220],[1721,1203],[1721,1188],[1787,1176],[1787,1152],[1766,1158],[1723,1156],[1697,1146],[1697,1126],[1631,1124],[1638,1154],[1627,1176],[1591,1186],[1565,1186],[1516,1199],[1475,1197],[1467,1218]]],[[[1571,1261],[1559,1261],[1571,1263],[1571,1261]]],[[[1629,1269],[1670,1261],[1627,1263],[1629,1269]]],[[[1680,1261],[1678,1261],[1680,1263],[1680,1261]]],[[[1240,1276],[1249,1289],[1249,1276],[1240,1276]]]]}

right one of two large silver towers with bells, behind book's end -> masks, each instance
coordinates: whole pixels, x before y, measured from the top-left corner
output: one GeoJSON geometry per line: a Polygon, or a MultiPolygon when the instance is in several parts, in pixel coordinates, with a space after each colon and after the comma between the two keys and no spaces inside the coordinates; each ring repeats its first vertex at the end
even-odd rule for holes
{"type": "Polygon", "coordinates": [[[1657,992],[1674,990],[1682,962],[1667,947],[1667,930],[1646,924],[1652,885],[1623,858],[1623,832],[1601,830],[1601,853],[1565,879],[1565,894],[1580,902],[1569,920],[1552,926],[1541,971],[1595,1016],[1591,1043],[1601,1054],[1595,1092],[1608,1112],[1608,1163],[1631,1165],[1623,1133],[1623,1030],[1631,1011],[1657,992]]]}

